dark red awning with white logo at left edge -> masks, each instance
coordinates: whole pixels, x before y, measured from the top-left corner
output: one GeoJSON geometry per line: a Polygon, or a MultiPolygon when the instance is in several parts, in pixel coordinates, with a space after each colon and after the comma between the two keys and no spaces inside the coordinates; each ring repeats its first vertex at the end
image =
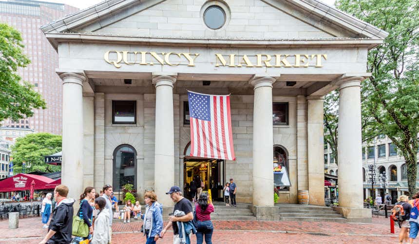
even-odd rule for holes
{"type": "Polygon", "coordinates": [[[31,189],[31,182],[35,182],[35,190],[54,189],[55,185],[49,185],[54,182],[41,175],[17,174],[0,182],[0,192],[26,191],[31,189]]]}

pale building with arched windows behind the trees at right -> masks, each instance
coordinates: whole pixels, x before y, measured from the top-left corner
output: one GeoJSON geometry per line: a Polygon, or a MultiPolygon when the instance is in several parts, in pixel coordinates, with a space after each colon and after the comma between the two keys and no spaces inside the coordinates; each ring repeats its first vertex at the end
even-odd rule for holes
{"type": "MultiPolygon", "coordinates": [[[[338,165],[332,157],[332,151],[325,147],[324,168],[325,173],[338,175],[338,165]]],[[[407,193],[407,165],[404,157],[397,151],[396,146],[385,135],[378,136],[373,142],[362,143],[362,181],[364,199],[373,195],[371,181],[369,181],[369,165],[374,165],[376,181],[374,184],[375,195],[380,195],[384,199],[385,193],[392,196],[392,203],[396,203],[397,196],[407,193]],[[385,172],[386,184],[379,180],[380,174],[385,172]],[[385,187],[384,187],[385,186],[385,187]]],[[[418,187],[418,173],[416,176],[418,187]]]]}

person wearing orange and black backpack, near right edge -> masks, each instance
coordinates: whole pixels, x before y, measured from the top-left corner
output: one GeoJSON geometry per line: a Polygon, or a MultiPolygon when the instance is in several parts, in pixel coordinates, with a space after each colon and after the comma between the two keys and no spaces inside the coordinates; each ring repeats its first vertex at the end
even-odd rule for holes
{"type": "Polygon", "coordinates": [[[399,233],[399,244],[403,244],[403,240],[407,242],[409,233],[409,216],[412,209],[412,205],[408,203],[409,197],[406,195],[401,195],[397,199],[397,203],[394,205],[391,210],[391,218],[394,221],[399,222],[400,233],[399,233]]]}

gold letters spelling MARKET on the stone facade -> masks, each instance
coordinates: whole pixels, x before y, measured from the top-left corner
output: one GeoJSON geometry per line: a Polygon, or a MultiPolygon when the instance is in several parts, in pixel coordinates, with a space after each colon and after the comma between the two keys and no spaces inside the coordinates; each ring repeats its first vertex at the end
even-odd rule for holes
{"type": "Polygon", "coordinates": [[[215,67],[323,67],[322,61],[327,60],[326,54],[256,54],[255,56],[236,56],[234,54],[215,54],[215,67]]]}

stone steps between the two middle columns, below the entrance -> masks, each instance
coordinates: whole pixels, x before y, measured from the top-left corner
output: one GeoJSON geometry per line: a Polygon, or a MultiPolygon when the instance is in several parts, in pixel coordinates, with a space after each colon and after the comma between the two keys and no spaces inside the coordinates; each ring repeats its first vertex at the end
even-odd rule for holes
{"type": "Polygon", "coordinates": [[[256,220],[256,217],[251,211],[251,205],[246,203],[238,203],[236,207],[231,207],[226,206],[224,203],[214,202],[214,210],[211,213],[211,220],[256,220]]]}

